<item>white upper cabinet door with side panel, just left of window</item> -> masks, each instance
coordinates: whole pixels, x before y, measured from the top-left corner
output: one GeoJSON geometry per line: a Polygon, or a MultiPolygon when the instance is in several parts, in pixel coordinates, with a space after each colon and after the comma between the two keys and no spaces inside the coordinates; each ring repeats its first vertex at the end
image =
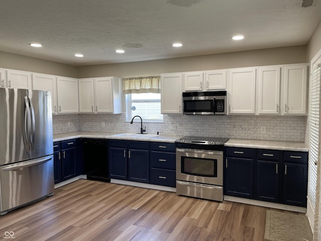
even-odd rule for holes
{"type": "Polygon", "coordinates": [[[95,78],[96,113],[114,113],[122,111],[122,82],[118,77],[95,78]]]}

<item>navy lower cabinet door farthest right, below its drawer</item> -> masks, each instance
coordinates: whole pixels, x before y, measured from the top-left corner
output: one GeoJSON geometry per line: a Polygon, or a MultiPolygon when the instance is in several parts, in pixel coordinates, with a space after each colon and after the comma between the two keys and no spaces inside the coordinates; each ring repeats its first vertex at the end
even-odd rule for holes
{"type": "Polygon", "coordinates": [[[283,164],[283,203],[306,207],[307,165],[283,164]]]}

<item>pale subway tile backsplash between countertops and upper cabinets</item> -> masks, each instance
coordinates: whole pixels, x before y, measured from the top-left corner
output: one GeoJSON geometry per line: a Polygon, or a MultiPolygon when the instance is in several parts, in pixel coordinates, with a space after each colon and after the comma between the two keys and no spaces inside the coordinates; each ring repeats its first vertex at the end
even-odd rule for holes
{"type": "MultiPolygon", "coordinates": [[[[139,119],[139,118],[138,118],[139,119]]],[[[137,119],[137,121],[138,121],[137,119]]],[[[307,116],[164,115],[164,123],[144,123],[148,134],[225,137],[304,142],[307,116]]],[[[74,131],[137,133],[140,122],[126,122],[126,114],[64,114],[53,116],[54,134],[74,131]]]]}

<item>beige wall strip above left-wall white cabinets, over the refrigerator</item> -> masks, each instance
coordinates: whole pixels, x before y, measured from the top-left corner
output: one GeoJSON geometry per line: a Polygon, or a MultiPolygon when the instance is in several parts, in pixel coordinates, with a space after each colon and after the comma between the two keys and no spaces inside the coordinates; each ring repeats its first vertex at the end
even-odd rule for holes
{"type": "Polygon", "coordinates": [[[0,52],[0,68],[78,77],[78,68],[76,66],[6,52],[0,52]]]}

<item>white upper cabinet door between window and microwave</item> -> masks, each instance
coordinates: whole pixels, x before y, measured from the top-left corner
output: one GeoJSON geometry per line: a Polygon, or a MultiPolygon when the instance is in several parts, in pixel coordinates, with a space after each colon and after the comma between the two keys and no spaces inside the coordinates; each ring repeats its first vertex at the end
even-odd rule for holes
{"type": "Polygon", "coordinates": [[[161,86],[162,113],[182,113],[182,74],[162,74],[161,86]]]}

